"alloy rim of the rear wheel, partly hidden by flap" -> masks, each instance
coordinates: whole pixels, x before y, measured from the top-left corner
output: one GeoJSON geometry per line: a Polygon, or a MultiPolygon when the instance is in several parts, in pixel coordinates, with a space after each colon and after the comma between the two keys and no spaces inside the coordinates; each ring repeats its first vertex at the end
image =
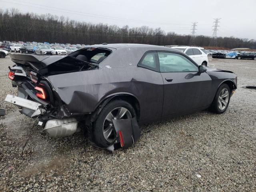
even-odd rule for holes
{"type": "Polygon", "coordinates": [[[116,139],[116,131],[113,125],[113,119],[130,119],[132,114],[130,111],[124,107],[114,108],[106,116],[103,123],[103,136],[107,142],[113,142],[116,139]]]}

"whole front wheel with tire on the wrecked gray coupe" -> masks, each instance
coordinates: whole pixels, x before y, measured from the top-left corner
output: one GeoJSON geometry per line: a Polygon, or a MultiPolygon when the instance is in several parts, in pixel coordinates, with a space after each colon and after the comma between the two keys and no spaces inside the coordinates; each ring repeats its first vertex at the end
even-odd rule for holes
{"type": "Polygon", "coordinates": [[[230,88],[227,84],[222,84],[216,92],[216,95],[212,102],[211,110],[217,114],[224,113],[228,108],[229,101],[230,88]]]}

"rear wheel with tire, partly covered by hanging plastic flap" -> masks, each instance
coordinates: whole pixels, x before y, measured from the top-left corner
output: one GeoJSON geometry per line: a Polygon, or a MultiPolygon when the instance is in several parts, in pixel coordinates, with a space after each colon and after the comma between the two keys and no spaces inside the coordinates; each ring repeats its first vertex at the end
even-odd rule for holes
{"type": "Polygon", "coordinates": [[[93,142],[102,147],[108,147],[116,140],[116,131],[113,119],[131,119],[136,116],[132,105],[124,100],[114,100],[102,109],[97,120],[93,123],[92,136],[93,142]]]}

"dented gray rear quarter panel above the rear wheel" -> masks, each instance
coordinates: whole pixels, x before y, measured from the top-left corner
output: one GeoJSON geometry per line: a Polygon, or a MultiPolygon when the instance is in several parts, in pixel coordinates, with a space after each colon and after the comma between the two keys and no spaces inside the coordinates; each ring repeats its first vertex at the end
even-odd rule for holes
{"type": "Polygon", "coordinates": [[[159,118],[162,113],[163,80],[160,73],[136,66],[100,68],[48,76],[72,113],[93,112],[112,94],[128,93],[140,104],[140,120],[159,118]]]}

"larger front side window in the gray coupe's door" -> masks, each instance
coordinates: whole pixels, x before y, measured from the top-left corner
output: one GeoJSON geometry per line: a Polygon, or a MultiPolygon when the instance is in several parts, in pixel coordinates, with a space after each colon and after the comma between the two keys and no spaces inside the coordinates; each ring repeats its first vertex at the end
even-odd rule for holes
{"type": "Polygon", "coordinates": [[[158,52],[160,72],[196,72],[198,67],[181,54],[158,52]]]}

